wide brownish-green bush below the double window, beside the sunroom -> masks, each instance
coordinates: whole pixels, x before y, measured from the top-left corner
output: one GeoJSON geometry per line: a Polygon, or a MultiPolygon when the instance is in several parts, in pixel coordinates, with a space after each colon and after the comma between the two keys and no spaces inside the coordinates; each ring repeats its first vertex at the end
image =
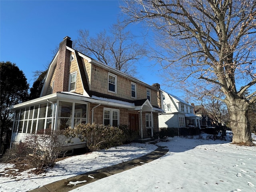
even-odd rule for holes
{"type": "Polygon", "coordinates": [[[79,124],[74,129],[68,128],[64,135],[72,142],[72,138],[86,141],[89,150],[96,151],[103,148],[118,146],[132,139],[132,132],[128,126],[104,126],[103,124],[79,124]]]}

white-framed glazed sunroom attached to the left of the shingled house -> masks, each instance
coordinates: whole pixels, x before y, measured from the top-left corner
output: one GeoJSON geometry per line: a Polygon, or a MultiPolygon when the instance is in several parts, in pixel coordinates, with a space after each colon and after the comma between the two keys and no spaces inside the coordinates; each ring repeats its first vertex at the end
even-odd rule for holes
{"type": "MultiPolygon", "coordinates": [[[[72,94],[55,93],[15,105],[12,142],[24,142],[28,134],[43,133],[46,129],[64,130],[87,123],[89,102],[84,100],[72,94]]],[[[72,145],[82,147],[85,142],[75,139],[72,145]]]]}

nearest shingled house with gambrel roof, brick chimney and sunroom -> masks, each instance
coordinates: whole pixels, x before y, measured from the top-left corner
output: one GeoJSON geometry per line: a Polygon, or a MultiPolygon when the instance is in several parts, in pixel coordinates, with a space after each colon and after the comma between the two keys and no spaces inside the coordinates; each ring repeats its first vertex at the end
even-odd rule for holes
{"type": "MultiPolygon", "coordinates": [[[[72,48],[66,36],[44,78],[39,98],[17,104],[12,142],[81,123],[127,125],[140,138],[158,132],[158,89],[72,48]]],[[[71,144],[70,144],[71,145],[71,144]]],[[[79,140],[72,148],[84,146],[79,140]]]]}

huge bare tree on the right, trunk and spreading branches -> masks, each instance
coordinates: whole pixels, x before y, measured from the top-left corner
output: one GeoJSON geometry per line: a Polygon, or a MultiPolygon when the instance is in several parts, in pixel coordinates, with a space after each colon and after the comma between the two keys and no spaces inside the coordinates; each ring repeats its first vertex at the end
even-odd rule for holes
{"type": "Polygon", "coordinates": [[[227,105],[232,143],[254,145],[247,112],[256,101],[256,1],[126,0],[122,10],[127,22],[158,31],[155,58],[173,80],[192,81],[204,95],[220,86],[225,97],[212,96],[227,105]]]}

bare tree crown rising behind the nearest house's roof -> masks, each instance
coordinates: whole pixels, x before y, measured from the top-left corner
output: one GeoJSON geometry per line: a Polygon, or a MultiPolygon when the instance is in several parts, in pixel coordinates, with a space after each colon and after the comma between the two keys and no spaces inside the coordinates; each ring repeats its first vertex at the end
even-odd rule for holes
{"type": "Polygon", "coordinates": [[[78,51],[126,74],[137,74],[135,62],[146,55],[146,49],[120,22],[112,25],[109,32],[103,30],[96,36],[90,36],[89,30],[78,32],[79,37],[75,41],[78,51]]]}

